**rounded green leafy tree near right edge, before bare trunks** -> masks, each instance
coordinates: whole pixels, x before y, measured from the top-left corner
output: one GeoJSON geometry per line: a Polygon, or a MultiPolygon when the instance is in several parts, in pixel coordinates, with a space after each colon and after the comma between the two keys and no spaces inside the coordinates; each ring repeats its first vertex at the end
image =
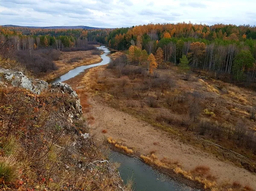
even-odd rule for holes
{"type": "Polygon", "coordinates": [[[244,77],[245,68],[253,67],[254,58],[249,50],[241,50],[235,57],[233,72],[237,80],[244,77]]]}

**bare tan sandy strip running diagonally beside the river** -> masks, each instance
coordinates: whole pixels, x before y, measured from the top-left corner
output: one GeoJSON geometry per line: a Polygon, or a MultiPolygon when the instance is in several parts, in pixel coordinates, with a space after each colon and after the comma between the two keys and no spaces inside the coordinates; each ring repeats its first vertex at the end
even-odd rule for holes
{"type": "Polygon", "coordinates": [[[89,81],[90,72],[96,72],[96,68],[91,68],[89,72],[80,74],[66,83],[78,92],[84,115],[91,123],[91,132],[98,139],[113,137],[141,154],[154,151],[158,158],[166,157],[171,161],[177,161],[187,171],[198,165],[206,165],[211,169],[212,175],[218,177],[219,184],[225,181],[239,181],[242,185],[249,184],[256,189],[255,174],[220,161],[204,151],[196,150],[191,145],[173,139],[170,134],[106,105],[101,97],[88,92],[86,82],[89,81]],[[102,129],[106,129],[107,133],[103,134],[102,129]]]}

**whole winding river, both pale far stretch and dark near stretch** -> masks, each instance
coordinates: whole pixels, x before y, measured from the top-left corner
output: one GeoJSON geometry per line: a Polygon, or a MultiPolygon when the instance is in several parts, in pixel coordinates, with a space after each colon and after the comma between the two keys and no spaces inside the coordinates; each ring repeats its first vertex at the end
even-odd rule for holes
{"type": "MultiPolygon", "coordinates": [[[[104,51],[104,54],[101,55],[102,61],[100,63],[88,66],[79,66],[73,70],[70,70],[61,77],[55,78],[54,80],[50,81],[50,83],[64,82],[75,77],[88,68],[108,64],[111,59],[107,55],[111,53],[111,51],[105,46],[100,46],[97,48],[104,51]]],[[[195,191],[195,189],[183,185],[180,182],[176,182],[166,175],[159,173],[137,158],[128,157],[116,151],[111,151],[109,154],[109,160],[111,162],[120,163],[120,176],[125,183],[130,179],[133,181],[134,191],[195,191]]]]}

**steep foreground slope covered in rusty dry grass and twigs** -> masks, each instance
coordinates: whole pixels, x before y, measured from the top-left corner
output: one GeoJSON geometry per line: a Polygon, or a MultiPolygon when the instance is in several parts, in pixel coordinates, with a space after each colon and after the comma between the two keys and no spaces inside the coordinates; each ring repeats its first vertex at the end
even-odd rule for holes
{"type": "Polygon", "coordinates": [[[89,127],[76,99],[60,92],[48,89],[35,99],[25,89],[0,89],[0,183],[10,190],[121,190],[116,168],[95,162],[105,157],[81,137],[89,127]]]}

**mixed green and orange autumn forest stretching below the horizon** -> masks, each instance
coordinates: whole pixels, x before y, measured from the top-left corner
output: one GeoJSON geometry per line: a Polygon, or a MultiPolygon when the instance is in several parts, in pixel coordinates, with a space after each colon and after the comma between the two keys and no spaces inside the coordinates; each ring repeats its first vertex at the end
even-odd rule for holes
{"type": "MultiPolygon", "coordinates": [[[[10,57],[8,52],[13,49],[28,49],[30,53],[47,47],[67,50],[85,48],[92,42],[119,51],[135,47],[136,52],[131,53],[132,64],[143,63],[140,59],[143,55],[144,60],[150,54],[155,57],[158,50],[158,57],[163,54],[165,62],[179,65],[183,57],[185,62],[188,60],[190,68],[213,72],[215,77],[249,83],[256,79],[255,26],[151,23],[131,28],[92,30],[0,27],[0,50],[4,57],[10,57]]],[[[165,62],[160,59],[158,67],[165,62]]]]}

